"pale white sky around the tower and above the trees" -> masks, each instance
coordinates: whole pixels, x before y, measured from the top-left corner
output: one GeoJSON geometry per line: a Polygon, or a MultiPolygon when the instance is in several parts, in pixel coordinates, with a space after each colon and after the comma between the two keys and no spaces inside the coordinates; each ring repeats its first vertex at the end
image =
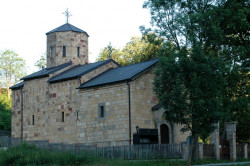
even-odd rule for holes
{"type": "Polygon", "coordinates": [[[25,59],[28,74],[46,53],[47,32],[69,23],[89,34],[89,61],[95,62],[109,42],[122,48],[132,36],[140,36],[139,26],[150,26],[150,12],[145,0],[1,0],[0,52],[15,51],[25,59]]]}

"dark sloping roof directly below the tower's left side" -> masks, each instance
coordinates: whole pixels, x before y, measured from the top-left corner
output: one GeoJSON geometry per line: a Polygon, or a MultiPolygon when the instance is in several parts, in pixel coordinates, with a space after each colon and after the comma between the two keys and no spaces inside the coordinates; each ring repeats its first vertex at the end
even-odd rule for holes
{"type": "Polygon", "coordinates": [[[61,70],[65,67],[68,67],[70,65],[72,65],[72,62],[67,62],[67,63],[64,63],[62,65],[51,67],[51,68],[45,68],[45,69],[42,69],[38,72],[35,72],[33,74],[30,74],[28,76],[23,77],[23,78],[21,78],[21,80],[32,80],[32,79],[36,79],[36,78],[46,77],[46,76],[49,76],[49,74],[52,74],[58,70],[61,70]]]}

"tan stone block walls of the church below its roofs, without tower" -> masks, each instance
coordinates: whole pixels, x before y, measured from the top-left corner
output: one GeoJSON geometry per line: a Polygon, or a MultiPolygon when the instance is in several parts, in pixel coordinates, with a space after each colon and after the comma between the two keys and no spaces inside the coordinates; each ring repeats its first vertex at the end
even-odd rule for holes
{"type": "MultiPolygon", "coordinates": [[[[111,67],[117,66],[111,62],[84,75],[81,81],[88,81],[111,67]]],[[[151,110],[157,104],[153,77],[153,71],[149,71],[129,82],[131,139],[137,125],[140,128],[156,128],[151,110]]],[[[80,85],[78,79],[53,84],[49,84],[48,79],[45,77],[24,83],[24,139],[97,146],[129,144],[127,83],[76,89],[80,85]],[[105,107],[104,118],[98,113],[100,104],[105,107]]],[[[12,136],[20,137],[20,90],[13,91],[13,103],[12,136]]]]}

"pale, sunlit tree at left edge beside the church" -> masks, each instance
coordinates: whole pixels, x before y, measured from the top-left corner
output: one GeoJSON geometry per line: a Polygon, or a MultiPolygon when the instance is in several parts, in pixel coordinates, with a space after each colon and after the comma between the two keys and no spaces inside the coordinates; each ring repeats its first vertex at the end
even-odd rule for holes
{"type": "Polygon", "coordinates": [[[25,61],[12,50],[5,50],[0,54],[1,83],[7,89],[10,99],[10,86],[25,75],[25,61]]]}

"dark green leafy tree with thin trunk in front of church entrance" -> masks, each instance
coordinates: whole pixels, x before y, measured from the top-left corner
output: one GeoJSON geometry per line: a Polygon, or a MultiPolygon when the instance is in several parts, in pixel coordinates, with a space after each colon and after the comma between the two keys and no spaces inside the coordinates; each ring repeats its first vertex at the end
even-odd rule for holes
{"type": "Polygon", "coordinates": [[[181,131],[191,132],[193,153],[197,153],[198,138],[208,137],[212,124],[221,117],[224,79],[220,66],[220,60],[195,47],[162,57],[155,71],[154,91],[167,111],[166,119],[183,125],[181,131]]]}

